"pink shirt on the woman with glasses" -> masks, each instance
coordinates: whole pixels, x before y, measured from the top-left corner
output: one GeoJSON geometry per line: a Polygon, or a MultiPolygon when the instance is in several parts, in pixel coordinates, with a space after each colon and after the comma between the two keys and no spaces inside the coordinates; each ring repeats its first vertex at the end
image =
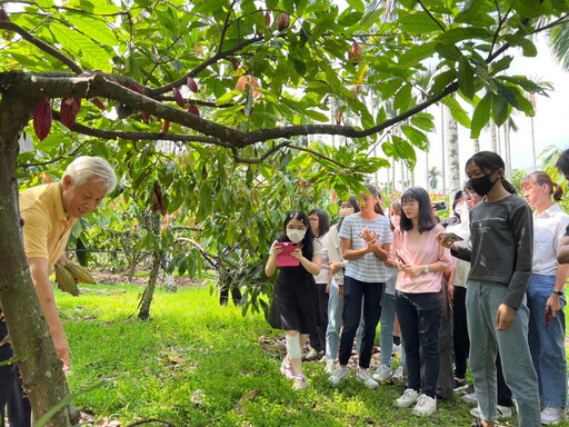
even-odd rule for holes
{"type": "MultiPolygon", "coordinates": [[[[437,242],[435,236],[445,232],[440,224],[429,231],[393,231],[393,250],[408,266],[423,266],[440,262],[442,267],[450,268],[452,258],[450,250],[437,242]]],[[[423,272],[417,277],[410,277],[400,271],[397,277],[396,289],[408,294],[438,292],[442,282],[442,271],[423,272]]]]}

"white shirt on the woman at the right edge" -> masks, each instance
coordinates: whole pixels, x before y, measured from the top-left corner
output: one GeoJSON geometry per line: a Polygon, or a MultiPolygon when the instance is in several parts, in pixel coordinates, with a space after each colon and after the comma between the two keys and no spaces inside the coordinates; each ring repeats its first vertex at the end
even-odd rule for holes
{"type": "Polygon", "coordinates": [[[557,275],[557,249],[569,225],[569,215],[558,205],[540,215],[533,212],[533,262],[531,272],[557,275]]]}

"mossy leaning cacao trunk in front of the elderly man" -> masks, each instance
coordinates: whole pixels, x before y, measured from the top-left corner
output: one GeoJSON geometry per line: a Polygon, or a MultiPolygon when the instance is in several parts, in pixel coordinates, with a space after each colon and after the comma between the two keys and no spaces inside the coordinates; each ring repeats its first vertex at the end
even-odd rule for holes
{"type": "MultiPolygon", "coordinates": [[[[30,119],[37,102],[34,100],[27,105],[22,95],[8,90],[2,93],[0,101],[0,307],[4,312],[14,356],[32,352],[18,361],[18,367],[34,417],[39,419],[64,399],[69,389],[31,281],[18,208],[18,133],[30,119]]],[[[68,404],[47,425],[70,427],[78,418],[79,413],[73,404],[68,404]]]]}

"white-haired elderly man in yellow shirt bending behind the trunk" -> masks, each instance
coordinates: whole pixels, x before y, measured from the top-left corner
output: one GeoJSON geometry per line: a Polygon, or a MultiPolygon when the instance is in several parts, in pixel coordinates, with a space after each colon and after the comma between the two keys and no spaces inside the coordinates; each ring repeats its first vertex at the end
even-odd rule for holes
{"type": "MultiPolygon", "coordinates": [[[[30,275],[63,370],[70,368],[69,344],[49,276],[56,262],[67,261],[63,250],[77,220],[93,211],[116,186],[117,177],[107,160],[84,156],[69,165],[59,182],[29,188],[20,193],[20,215],[24,221],[23,246],[30,275]]],[[[0,338],[3,339],[7,334],[6,324],[0,321],[0,338]]],[[[0,346],[0,360],[11,357],[10,345],[3,342],[0,346]]],[[[0,368],[1,426],[6,405],[11,427],[31,425],[29,403],[23,397],[13,366],[0,368]]]]}

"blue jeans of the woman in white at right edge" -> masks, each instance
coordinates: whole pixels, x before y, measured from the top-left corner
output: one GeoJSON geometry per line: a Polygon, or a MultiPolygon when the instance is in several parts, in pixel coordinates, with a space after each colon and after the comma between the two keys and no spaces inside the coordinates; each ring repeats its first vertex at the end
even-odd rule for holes
{"type": "Polygon", "coordinates": [[[531,275],[528,286],[528,342],[539,379],[539,395],[546,406],[565,408],[567,400],[567,355],[565,349],[565,296],[561,309],[546,328],[546,304],[555,289],[556,276],[531,275]]]}

